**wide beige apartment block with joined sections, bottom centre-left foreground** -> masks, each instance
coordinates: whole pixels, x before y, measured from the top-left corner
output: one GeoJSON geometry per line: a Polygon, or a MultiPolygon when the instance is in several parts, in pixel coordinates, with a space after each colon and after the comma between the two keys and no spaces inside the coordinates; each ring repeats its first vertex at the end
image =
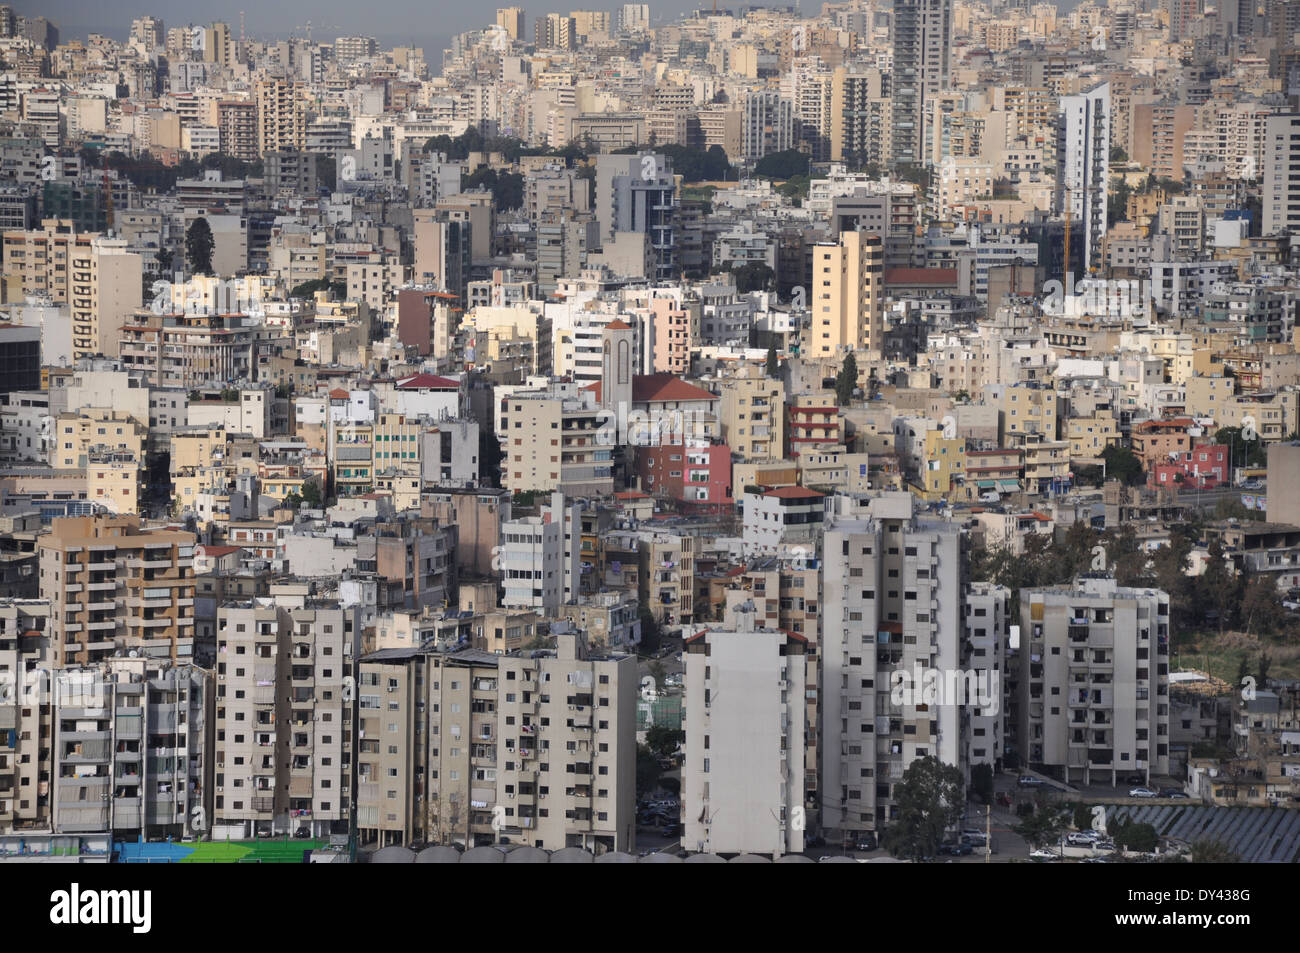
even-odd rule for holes
{"type": "Polygon", "coordinates": [[[541,658],[390,649],[359,671],[363,842],[633,849],[634,658],[560,634],[541,658]]]}

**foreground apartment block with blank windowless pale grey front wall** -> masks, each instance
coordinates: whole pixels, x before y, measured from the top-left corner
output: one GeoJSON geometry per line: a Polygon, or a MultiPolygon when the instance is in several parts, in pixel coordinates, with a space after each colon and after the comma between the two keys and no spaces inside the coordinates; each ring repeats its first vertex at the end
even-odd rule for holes
{"type": "Polygon", "coordinates": [[[688,850],[785,854],[803,850],[807,680],[805,641],[757,628],[685,641],[685,761],[681,837],[688,850]]]}

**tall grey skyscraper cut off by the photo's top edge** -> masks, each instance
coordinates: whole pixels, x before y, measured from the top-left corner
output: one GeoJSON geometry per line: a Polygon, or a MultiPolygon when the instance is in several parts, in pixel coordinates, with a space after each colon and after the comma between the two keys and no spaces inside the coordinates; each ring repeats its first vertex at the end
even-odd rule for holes
{"type": "Polygon", "coordinates": [[[898,0],[893,14],[890,135],[894,165],[924,161],[926,100],[948,87],[953,0],[898,0]]]}

